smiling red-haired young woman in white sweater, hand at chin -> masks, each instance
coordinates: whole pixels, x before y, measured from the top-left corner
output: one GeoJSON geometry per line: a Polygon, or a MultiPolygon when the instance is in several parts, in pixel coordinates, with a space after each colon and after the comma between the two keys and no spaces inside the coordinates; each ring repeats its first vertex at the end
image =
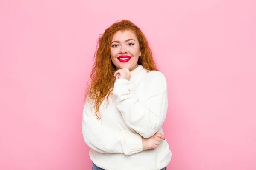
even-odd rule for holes
{"type": "Polygon", "coordinates": [[[145,35],[121,20],[98,43],[82,121],[93,170],[166,170],[167,84],[145,35]]]}

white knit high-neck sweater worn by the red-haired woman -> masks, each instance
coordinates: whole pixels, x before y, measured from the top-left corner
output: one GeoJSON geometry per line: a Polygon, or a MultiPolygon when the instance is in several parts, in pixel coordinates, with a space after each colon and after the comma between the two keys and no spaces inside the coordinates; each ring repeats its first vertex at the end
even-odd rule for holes
{"type": "Polygon", "coordinates": [[[166,140],[156,149],[143,150],[142,139],[163,134],[166,118],[167,84],[159,71],[139,65],[131,71],[130,81],[117,79],[109,103],[102,102],[96,119],[87,100],[84,105],[82,132],[91,147],[90,159],[105,170],[160,170],[171,161],[166,140]]]}

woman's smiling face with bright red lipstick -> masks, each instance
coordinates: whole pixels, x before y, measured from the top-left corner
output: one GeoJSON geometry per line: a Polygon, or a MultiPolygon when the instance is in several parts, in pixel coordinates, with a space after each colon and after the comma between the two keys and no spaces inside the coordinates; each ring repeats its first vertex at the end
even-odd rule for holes
{"type": "Polygon", "coordinates": [[[111,60],[117,69],[138,67],[141,56],[139,41],[133,31],[117,31],[111,41],[111,60]]]}

